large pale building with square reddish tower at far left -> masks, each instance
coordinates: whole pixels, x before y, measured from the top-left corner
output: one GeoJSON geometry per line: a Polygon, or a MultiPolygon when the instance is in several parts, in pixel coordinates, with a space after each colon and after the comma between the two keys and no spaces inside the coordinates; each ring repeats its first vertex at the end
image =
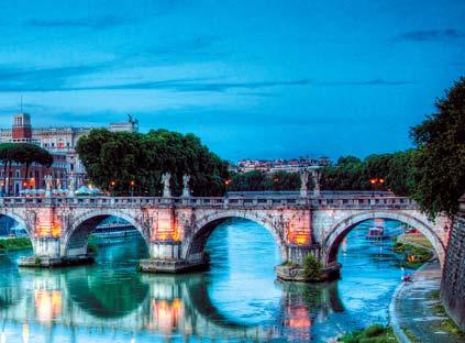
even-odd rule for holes
{"type": "MultiPolygon", "coordinates": [[[[25,168],[21,165],[12,165],[9,175],[4,176],[4,168],[1,167],[1,188],[9,188],[10,193],[18,195],[24,188],[45,188],[44,177],[53,177],[54,188],[66,189],[69,180],[75,179],[76,187],[86,182],[86,169],[76,153],[76,144],[79,139],[90,132],[92,128],[47,128],[36,129],[31,124],[31,115],[19,113],[13,117],[12,129],[0,129],[0,142],[32,143],[47,150],[54,157],[51,168],[40,165],[32,165],[27,176],[25,168]],[[4,179],[4,181],[3,181],[4,179]]],[[[113,132],[135,132],[137,121],[130,117],[128,123],[110,124],[113,132]]]]}

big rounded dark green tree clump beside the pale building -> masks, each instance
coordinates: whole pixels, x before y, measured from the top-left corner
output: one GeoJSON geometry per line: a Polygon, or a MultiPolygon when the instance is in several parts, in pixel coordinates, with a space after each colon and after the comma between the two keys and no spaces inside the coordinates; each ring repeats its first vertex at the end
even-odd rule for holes
{"type": "Polygon", "coordinates": [[[92,130],[78,141],[76,150],[96,186],[117,195],[130,193],[131,181],[135,195],[160,195],[162,175],[169,172],[174,195],[180,195],[182,175],[188,174],[196,196],[220,196],[229,177],[228,164],[193,134],[92,130]]]}

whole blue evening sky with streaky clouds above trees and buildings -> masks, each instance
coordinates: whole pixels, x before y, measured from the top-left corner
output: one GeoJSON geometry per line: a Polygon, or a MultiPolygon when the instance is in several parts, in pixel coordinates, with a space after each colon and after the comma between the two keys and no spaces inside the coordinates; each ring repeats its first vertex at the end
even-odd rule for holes
{"type": "Polygon", "coordinates": [[[0,126],[193,132],[228,159],[392,152],[465,75],[465,1],[0,0],[0,126]]]}

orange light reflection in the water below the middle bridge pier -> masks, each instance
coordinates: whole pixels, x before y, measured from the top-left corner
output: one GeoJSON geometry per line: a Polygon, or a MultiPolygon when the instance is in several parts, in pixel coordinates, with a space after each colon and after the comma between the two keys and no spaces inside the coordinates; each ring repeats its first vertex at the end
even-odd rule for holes
{"type": "Polygon", "coordinates": [[[171,333],[179,328],[180,320],[184,316],[184,305],[181,299],[171,301],[152,299],[153,319],[150,329],[171,333]]]}

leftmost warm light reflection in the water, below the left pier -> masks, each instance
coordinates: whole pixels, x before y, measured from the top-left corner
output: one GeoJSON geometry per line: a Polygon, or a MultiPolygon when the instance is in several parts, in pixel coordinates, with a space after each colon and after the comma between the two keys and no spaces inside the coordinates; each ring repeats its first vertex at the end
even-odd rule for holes
{"type": "Polygon", "coordinates": [[[47,289],[35,290],[34,305],[37,320],[52,322],[52,320],[62,316],[62,291],[47,289]]]}

